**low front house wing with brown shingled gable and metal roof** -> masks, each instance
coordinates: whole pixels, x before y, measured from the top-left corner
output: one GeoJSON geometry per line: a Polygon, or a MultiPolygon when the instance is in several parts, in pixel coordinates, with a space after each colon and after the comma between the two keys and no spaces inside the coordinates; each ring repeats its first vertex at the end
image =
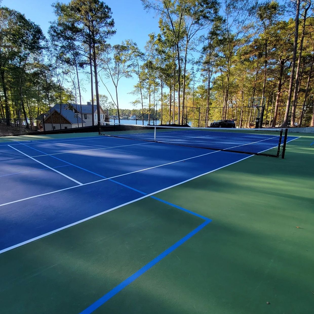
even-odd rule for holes
{"type": "Polygon", "coordinates": [[[45,131],[86,127],[86,122],[81,119],[80,114],[68,109],[52,110],[51,108],[51,112],[44,117],[43,121],[45,131]]]}

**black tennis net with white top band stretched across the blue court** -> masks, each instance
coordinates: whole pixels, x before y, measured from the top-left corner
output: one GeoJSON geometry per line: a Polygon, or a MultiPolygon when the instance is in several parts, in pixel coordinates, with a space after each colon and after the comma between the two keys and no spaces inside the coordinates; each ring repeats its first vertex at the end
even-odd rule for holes
{"type": "Polygon", "coordinates": [[[161,127],[108,123],[100,134],[141,141],[279,157],[287,138],[283,129],[161,127]]]}

